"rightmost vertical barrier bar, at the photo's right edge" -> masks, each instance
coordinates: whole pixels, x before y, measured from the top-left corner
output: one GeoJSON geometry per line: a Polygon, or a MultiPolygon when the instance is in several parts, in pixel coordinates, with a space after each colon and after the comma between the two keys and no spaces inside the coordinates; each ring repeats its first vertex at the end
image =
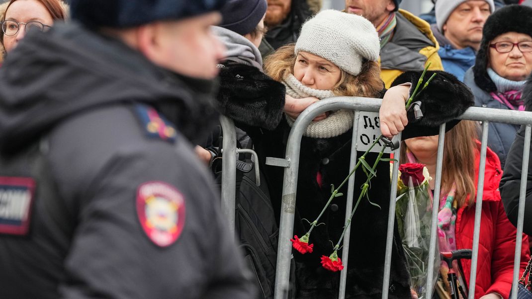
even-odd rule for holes
{"type": "Polygon", "coordinates": [[[523,241],[523,222],[525,219],[525,196],[527,192],[528,159],[530,155],[530,132],[532,126],[525,127],[525,143],[523,144],[523,162],[521,165],[521,185],[519,190],[519,210],[517,213],[516,252],[513,257],[512,299],[517,299],[517,284],[521,266],[521,246],[523,241]]]}

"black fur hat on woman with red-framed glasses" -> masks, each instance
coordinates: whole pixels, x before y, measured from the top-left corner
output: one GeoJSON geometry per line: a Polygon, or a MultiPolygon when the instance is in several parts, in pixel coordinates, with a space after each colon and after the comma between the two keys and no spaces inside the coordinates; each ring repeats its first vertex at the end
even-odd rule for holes
{"type": "Polygon", "coordinates": [[[525,5],[508,5],[489,16],[482,31],[482,41],[473,66],[475,83],[487,92],[496,91],[495,83],[489,78],[488,52],[490,42],[506,32],[524,33],[532,37],[532,7],[525,5]]]}

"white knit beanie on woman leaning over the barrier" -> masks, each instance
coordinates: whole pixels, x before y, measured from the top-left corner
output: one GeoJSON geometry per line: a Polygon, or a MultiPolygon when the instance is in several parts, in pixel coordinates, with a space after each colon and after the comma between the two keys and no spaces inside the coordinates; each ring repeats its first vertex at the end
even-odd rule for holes
{"type": "Polygon", "coordinates": [[[362,16],[325,10],[303,24],[295,54],[300,51],[325,58],[356,76],[364,58],[377,61],[380,42],[373,24],[362,16]]]}

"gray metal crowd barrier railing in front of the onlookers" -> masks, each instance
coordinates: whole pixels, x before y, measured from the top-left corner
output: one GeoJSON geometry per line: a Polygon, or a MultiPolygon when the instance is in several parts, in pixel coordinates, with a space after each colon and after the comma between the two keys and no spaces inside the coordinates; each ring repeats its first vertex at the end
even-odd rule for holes
{"type": "MultiPolygon", "coordinates": [[[[361,98],[361,97],[334,97],[329,99],[320,100],[315,102],[309,108],[307,108],[296,120],[290,131],[288,137],[288,143],[286,147],[286,156],[284,159],[280,158],[267,158],[267,164],[273,166],[280,166],[285,168],[284,172],[284,185],[282,188],[282,200],[281,200],[281,216],[280,216],[280,231],[279,231],[279,245],[278,245],[278,258],[277,258],[277,273],[276,273],[276,282],[275,282],[275,298],[281,299],[286,298],[288,294],[289,287],[289,273],[290,273],[290,257],[292,255],[292,244],[289,241],[293,234],[294,229],[294,216],[295,216],[295,203],[296,203],[296,190],[297,190],[297,177],[298,177],[298,166],[299,166],[299,157],[300,157],[300,144],[303,132],[306,127],[311,123],[312,119],[316,116],[325,113],[330,110],[337,109],[351,109],[355,111],[355,117],[353,121],[353,139],[352,139],[352,148],[351,148],[351,160],[350,160],[350,169],[354,168],[356,163],[356,142],[358,140],[358,121],[360,118],[360,112],[378,112],[382,100],[373,99],[373,98],[361,98]]],[[[483,197],[483,186],[484,186],[484,170],[485,170],[485,160],[486,160],[486,149],[487,149],[487,136],[488,136],[488,124],[490,122],[495,123],[509,123],[517,125],[525,125],[525,147],[523,149],[523,161],[522,161],[522,173],[521,173],[521,185],[520,185],[520,195],[519,195],[519,211],[518,211],[518,227],[516,235],[516,249],[514,255],[514,268],[513,268],[513,282],[512,282],[512,298],[517,298],[517,287],[519,279],[519,269],[520,269],[520,252],[521,252],[521,243],[522,243],[522,226],[523,218],[525,213],[525,194],[526,194],[526,178],[528,172],[528,159],[529,159],[529,147],[530,147],[530,133],[532,128],[532,112],[519,112],[513,110],[501,110],[501,109],[491,109],[491,108],[480,108],[480,107],[471,107],[459,117],[459,119],[469,120],[469,121],[480,121],[483,122],[482,125],[482,135],[481,135],[481,149],[480,149],[480,167],[479,167],[479,178],[478,178],[478,189],[477,189],[477,202],[475,210],[475,227],[473,232],[473,249],[472,249],[472,261],[471,261],[471,275],[469,279],[469,299],[473,299],[475,296],[475,283],[476,283],[476,269],[477,269],[477,259],[478,259],[478,244],[480,236],[480,213],[482,208],[482,197],[483,197]]],[[[232,123],[230,123],[232,125],[232,123]]],[[[228,125],[226,123],[226,125],[228,125]]],[[[223,122],[222,122],[223,127],[223,122]]],[[[224,138],[223,146],[226,151],[229,151],[229,148],[226,147],[226,142],[234,141],[235,139],[226,138],[226,132],[229,132],[231,129],[224,127],[224,138]],[[229,131],[226,131],[229,130],[229,131]]],[[[232,129],[234,131],[234,127],[232,129]]],[[[399,138],[401,136],[399,135],[399,138]]],[[[434,198],[440,198],[440,184],[441,184],[441,174],[442,174],[442,161],[443,161],[443,145],[445,138],[445,124],[439,127],[439,140],[438,140],[438,152],[437,152],[437,165],[436,165],[436,175],[435,175],[435,190],[434,198]]],[[[230,145],[228,145],[230,147],[230,145]]],[[[396,158],[400,157],[400,148],[394,151],[396,158]]],[[[235,147],[236,153],[236,147],[235,147]]],[[[229,155],[235,157],[236,155],[229,155]]],[[[225,160],[225,158],[224,158],[225,160]]],[[[229,160],[229,159],[228,159],[229,160]]],[[[224,161],[226,162],[226,161],[224,161]]],[[[231,161],[227,161],[227,165],[230,165],[231,161]]],[[[400,163],[395,163],[392,171],[392,182],[397,182],[398,168],[400,163]]],[[[226,164],[223,164],[223,167],[226,167],[226,164]]],[[[230,169],[235,169],[235,167],[229,167],[230,169]]],[[[227,168],[224,168],[227,169],[227,168]]],[[[234,171],[234,170],[229,170],[234,171]]],[[[227,180],[230,180],[230,175],[226,176],[227,180]]],[[[227,187],[229,188],[230,182],[227,182],[227,187]]],[[[346,217],[350,216],[352,205],[353,205],[353,194],[354,194],[354,176],[351,176],[348,181],[348,192],[347,192],[347,203],[346,203],[346,217]]],[[[387,243],[386,243],[386,252],[385,252],[385,261],[384,261],[384,277],[383,277],[383,295],[382,298],[388,298],[389,292],[389,281],[390,281],[390,266],[392,259],[392,242],[393,242],[393,228],[395,221],[395,199],[397,192],[397,184],[392,184],[390,192],[390,206],[388,212],[388,228],[387,228],[387,243]]],[[[232,185],[232,190],[234,190],[234,184],[232,185]]],[[[232,219],[232,224],[234,227],[234,192],[231,193],[230,190],[227,192],[222,191],[222,200],[226,203],[223,204],[223,207],[226,211],[229,219],[232,219]],[[232,196],[232,198],[227,198],[232,196]],[[231,207],[232,203],[232,209],[231,207]],[[232,213],[232,216],[231,216],[232,213]]],[[[431,239],[429,244],[429,252],[436,254],[436,225],[437,225],[437,212],[438,209],[433,209],[433,223],[431,225],[431,239]]],[[[350,230],[347,230],[344,242],[343,242],[343,255],[342,262],[344,264],[344,270],[340,274],[340,290],[339,298],[343,299],[345,297],[345,287],[346,287],[346,278],[347,278],[347,267],[348,267],[348,251],[349,251],[349,236],[350,230]]],[[[434,257],[429,258],[428,269],[433,269],[434,267],[434,257]]],[[[433,280],[428,279],[427,289],[433,289],[433,280]]],[[[431,299],[431,292],[427,292],[427,298],[431,299]]]]}

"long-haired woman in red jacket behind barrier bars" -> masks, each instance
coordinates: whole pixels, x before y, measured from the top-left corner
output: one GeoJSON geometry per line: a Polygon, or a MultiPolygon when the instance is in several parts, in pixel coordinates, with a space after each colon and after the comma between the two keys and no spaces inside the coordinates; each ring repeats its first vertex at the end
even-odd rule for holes
{"type": "MultiPolygon", "coordinates": [[[[477,125],[462,121],[445,134],[442,186],[438,213],[438,244],[440,251],[472,249],[475,224],[476,189],[480,161],[480,142],[476,139],[477,125]]],[[[432,177],[436,174],[438,136],[405,140],[402,161],[414,160],[425,164],[432,177]]],[[[475,298],[508,298],[513,276],[513,257],[516,246],[516,228],[504,212],[501,194],[501,163],[497,155],[487,149],[480,242],[478,249],[475,298]]],[[[429,181],[434,190],[435,180],[429,181]]],[[[528,237],[523,235],[521,269],[525,270],[529,257],[528,237]]],[[[467,292],[471,272],[471,260],[453,264],[453,269],[467,292]],[[465,284],[465,285],[464,285],[465,284]]],[[[442,288],[448,268],[442,263],[437,291],[442,288]]],[[[442,292],[438,292],[442,294],[442,292]]]]}

